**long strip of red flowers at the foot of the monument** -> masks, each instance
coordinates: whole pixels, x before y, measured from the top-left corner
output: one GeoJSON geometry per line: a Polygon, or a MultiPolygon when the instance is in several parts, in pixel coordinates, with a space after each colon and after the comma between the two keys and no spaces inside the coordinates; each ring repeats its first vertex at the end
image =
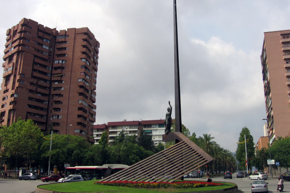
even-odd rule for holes
{"type": "Polygon", "coordinates": [[[125,186],[125,187],[142,187],[142,188],[192,188],[219,186],[222,183],[202,182],[202,181],[182,181],[182,182],[132,182],[132,181],[110,181],[110,182],[94,182],[98,185],[125,186]]]}

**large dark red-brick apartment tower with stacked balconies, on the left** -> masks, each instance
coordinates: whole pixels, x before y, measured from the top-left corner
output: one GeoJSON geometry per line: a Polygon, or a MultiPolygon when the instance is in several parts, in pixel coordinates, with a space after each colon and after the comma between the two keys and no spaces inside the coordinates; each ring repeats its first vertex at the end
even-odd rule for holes
{"type": "Polygon", "coordinates": [[[57,31],[23,18],[6,35],[1,125],[32,119],[42,131],[93,142],[100,43],[91,31],[57,31]]]}

